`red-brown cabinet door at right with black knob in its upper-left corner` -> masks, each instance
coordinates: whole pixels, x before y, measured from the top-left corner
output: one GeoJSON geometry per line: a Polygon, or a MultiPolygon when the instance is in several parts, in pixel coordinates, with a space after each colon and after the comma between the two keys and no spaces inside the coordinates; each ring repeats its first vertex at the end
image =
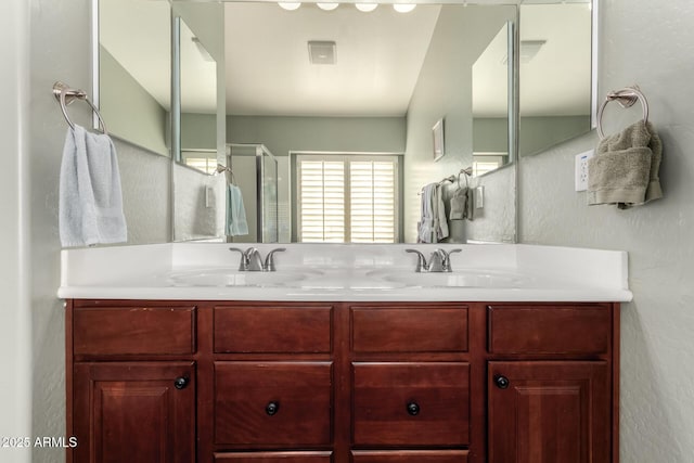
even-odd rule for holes
{"type": "Polygon", "coordinates": [[[489,362],[489,463],[608,463],[603,361],[489,362]]]}

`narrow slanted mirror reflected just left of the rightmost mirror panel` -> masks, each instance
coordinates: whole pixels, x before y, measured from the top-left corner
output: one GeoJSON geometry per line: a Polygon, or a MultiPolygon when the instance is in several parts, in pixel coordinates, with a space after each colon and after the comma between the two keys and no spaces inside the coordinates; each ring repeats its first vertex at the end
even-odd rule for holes
{"type": "Polygon", "coordinates": [[[474,177],[496,170],[511,162],[509,34],[510,27],[505,24],[473,65],[474,177]]]}

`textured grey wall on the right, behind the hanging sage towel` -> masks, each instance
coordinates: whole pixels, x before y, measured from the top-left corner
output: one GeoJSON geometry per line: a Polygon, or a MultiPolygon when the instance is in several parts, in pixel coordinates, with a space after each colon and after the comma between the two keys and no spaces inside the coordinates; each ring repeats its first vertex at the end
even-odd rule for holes
{"type": "MultiPolygon", "coordinates": [[[[664,142],[665,198],[630,210],[586,206],[574,155],[595,134],[520,163],[520,241],[629,252],[634,300],[622,307],[621,461],[694,455],[694,3],[611,0],[601,5],[599,92],[638,83],[664,142]]],[[[613,107],[614,106],[614,107],[613,107]]],[[[605,112],[605,132],[641,115],[605,112]]]]}

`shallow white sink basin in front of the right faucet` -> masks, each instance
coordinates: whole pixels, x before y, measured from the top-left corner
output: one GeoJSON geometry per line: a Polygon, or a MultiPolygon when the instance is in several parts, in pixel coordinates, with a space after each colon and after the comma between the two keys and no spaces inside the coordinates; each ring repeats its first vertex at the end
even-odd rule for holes
{"type": "Polygon", "coordinates": [[[369,275],[387,282],[419,287],[520,287],[526,279],[514,273],[499,271],[458,271],[432,273],[403,273],[373,271],[369,275]]]}

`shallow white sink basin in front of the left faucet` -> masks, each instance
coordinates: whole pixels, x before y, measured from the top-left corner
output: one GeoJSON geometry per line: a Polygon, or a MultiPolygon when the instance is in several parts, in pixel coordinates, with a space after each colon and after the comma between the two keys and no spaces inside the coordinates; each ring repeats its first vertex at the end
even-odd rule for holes
{"type": "Polygon", "coordinates": [[[240,272],[231,269],[203,269],[170,273],[172,286],[286,286],[309,278],[308,272],[240,272]]]}

